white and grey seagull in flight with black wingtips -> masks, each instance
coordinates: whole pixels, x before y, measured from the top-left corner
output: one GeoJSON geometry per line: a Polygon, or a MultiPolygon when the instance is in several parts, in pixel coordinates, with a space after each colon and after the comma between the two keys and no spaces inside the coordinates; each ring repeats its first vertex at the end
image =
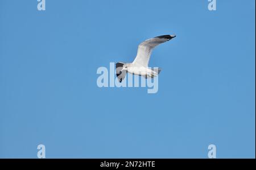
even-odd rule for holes
{"type": "Polygon", "coordinates": [[[168,42],[175,37],[176,35],[156,36],[155,38],[147,39],[139,44],[137,56],[135,57],[133,63],[118,62],[115,64],[115,71],[119,82],[122,82],[127,72],[130,74],[143,76],[145,78],[154,78],[155,76],[158,76],[161,71],[160,68],[148,68],[148,61],[150,60],[152,50],[159,44],[168,42]]]}

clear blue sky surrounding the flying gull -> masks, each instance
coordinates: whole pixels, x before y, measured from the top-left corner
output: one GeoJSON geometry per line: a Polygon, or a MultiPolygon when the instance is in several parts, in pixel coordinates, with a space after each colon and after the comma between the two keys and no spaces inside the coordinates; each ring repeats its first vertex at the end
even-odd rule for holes
{"type": "Polygon", "coordinates": [[[255,157],[255,1],[0,1],[0,157],[255,157]],[[159,89],[98,88],[152,53],[159,89]]]}

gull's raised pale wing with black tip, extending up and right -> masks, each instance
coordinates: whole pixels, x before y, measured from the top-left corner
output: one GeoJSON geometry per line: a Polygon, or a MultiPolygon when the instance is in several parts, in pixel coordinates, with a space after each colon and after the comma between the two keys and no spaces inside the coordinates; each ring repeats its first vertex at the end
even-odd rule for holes
{"type": "Polygon", "coordinates": [[[168,42],[168,40],[175,37],[175,35],[162,35],[142,42],[139,44],[137,56],[135,57],[133,64],[148,67],[148,61],[150,60],[152,49],[157,45],[168,42]]]}

